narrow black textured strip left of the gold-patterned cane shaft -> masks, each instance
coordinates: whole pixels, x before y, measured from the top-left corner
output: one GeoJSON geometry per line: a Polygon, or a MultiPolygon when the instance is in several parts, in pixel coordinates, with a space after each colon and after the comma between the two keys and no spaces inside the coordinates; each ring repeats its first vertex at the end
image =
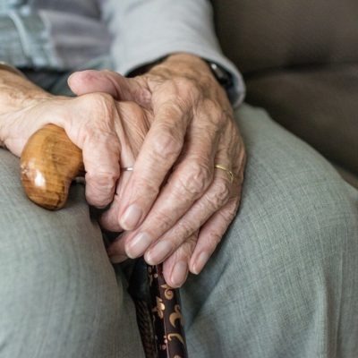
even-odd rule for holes
{"type": "Polygon", "coordinates": [[[144,354],[146,358],[158,358],[149,303],[144,300],[134,300],[134,303],[144,354]]]}

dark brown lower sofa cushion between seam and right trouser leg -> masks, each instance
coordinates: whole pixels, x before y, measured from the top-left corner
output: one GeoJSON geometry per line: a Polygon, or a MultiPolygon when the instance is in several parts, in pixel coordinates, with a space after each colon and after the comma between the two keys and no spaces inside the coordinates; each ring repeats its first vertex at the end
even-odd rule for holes
{"type": "Polygon", "coordinates": [[[247,101],[358,176],[358,64],[265,72],[247,101]]]}

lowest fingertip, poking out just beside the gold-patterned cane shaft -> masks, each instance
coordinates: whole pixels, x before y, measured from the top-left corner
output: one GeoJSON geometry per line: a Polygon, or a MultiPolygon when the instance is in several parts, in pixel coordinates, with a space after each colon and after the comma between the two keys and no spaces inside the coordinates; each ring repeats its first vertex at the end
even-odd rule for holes
{"type": "Polygon", "coordinates": [[[174,288],[183,286],[189,273],[188,262],[197,240],[197,234],[193,234],[164,262],[163,275],[169,286],[174,288]]]}

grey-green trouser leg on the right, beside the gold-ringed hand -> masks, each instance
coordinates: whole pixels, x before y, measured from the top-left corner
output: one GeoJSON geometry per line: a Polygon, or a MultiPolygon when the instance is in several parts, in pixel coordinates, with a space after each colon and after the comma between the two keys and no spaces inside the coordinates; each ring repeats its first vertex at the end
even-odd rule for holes
{"type": "Polygon", "coordinates": [[[358,192],[261,109],[244,105],[236,119],[248,151],[243,199],[183,288],[192,354],[357,354],[358,192]]]}

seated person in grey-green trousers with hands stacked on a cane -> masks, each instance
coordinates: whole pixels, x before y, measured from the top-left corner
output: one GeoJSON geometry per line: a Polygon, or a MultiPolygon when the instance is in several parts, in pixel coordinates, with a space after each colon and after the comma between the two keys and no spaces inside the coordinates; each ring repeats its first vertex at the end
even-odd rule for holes
{"type": "Polygon", "coordinates": [[[182,286],[192,357],[357,356],[358,192],[243,104],[209,2],[5,1],[0,24],[1,357],[142,357],[142,255],[182,286]],[[86,169],[58,212],[16,158],[46,124],[86,169]]]}

